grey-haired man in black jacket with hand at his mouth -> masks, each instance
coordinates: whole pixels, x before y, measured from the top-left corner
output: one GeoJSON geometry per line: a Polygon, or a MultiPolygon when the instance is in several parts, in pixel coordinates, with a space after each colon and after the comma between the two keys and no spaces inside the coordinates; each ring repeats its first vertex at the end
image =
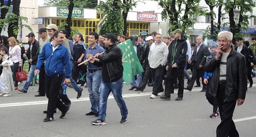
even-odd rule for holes
{"type": "Polygon", "coordinates": [[[218,34],[216,56],[204,66],[206,72],[212,72],[209,93],[216,96],[220,110],[217,137],[239,136],[232,116],[236,102],[238,106],[243,104],[247,90],[245,57],[232,49],[232,37],[227,31],[218,34]]]}

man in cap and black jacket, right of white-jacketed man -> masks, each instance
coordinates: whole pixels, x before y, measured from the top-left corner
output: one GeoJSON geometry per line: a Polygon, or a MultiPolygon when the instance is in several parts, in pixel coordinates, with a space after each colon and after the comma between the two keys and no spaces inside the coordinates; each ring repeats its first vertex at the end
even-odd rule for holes
{"type": "Polygon", "coordinates": [[[178,78],[178,97],[176,101],[183,99],[184,91],[184,68],[186,65],[186,53],[187,53],[187,42],[186,37],[183,36],[181,29],[177,29],[173,32],[174,40],[170,44],[170,50],[167,57],[166,65],[166,84],[164,95],[160,96],[161,99],[170,100],[170,93],[174,91],[174,81],[178,78]]]}

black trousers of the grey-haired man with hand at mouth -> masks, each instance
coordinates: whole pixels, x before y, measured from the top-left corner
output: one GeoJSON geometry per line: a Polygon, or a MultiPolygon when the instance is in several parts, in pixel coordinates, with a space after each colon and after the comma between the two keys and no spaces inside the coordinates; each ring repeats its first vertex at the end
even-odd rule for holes
{"type": "Polygon", "coordinates": [[[234,125],[234,121],[232,120],[234,107],[236,107],[237,100],[228,102],[224,101],[225,85],[225,83],[219,84],[216,96],[221,116],[221,123],[216,130],[217,137],[239,136],[236,126],[234,125]]]}

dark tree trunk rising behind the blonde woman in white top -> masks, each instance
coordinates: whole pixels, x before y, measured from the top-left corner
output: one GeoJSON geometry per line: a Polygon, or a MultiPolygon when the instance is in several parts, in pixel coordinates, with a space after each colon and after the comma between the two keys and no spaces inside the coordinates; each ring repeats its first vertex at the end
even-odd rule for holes
{"type": "Polygon", "coordinates": [[[15,39],[17,38],[18,33],[14,33],[13,30],[18,30],[18,16],[19,16],[19,5],[20,5],[21,0],[13,0],[12,5],[13,5],[13,11],[16,16],[13,17],[14,22],[10,22],[8,25],[8,37],[14,37],[15,39]]]}

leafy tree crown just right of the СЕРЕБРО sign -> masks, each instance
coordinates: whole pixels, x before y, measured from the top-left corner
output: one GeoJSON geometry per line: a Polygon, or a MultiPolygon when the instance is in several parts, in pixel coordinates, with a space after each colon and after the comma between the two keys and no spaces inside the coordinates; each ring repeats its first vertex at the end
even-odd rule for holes
{"type": "Polygon", "coordinates": [[[154,0],[158,2],[158,5],[163,8],[162,19],[169,18],[169,30],[168,33],[172,33],[176,29],[182,29],[183,32],[193,28],[196,18],[193,16],[199,16],[199,2],[200,0],[154,0]]]}

